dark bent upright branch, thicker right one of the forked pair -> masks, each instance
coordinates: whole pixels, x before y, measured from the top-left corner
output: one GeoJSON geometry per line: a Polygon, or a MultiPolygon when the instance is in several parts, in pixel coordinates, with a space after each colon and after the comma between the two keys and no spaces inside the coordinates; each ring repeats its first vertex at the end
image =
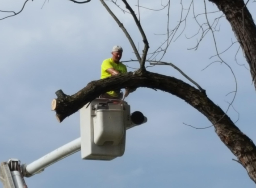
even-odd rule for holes
{"type": "Polygon", "coordinates": [[[126,5],[126,8],[130,11],[131,15],[133,16],[134,21],[138,27],[138,30],[141,33],[141,36],[143,38],[143,43],[144,43],[143,55],[142,55],[142,58],[138,61],[140,64],[140,69],[145,69],[145,61],[146,61],[147,52],[149,49],[149,44],[147,41],[146,34],[144,33],[144,30],[143,30],[142,26],[140,25],[140,21],[138,20],[134,10],[130,7],[130,4],[128,4],[126,0],[122,0],[122,2],[126,5]]]}

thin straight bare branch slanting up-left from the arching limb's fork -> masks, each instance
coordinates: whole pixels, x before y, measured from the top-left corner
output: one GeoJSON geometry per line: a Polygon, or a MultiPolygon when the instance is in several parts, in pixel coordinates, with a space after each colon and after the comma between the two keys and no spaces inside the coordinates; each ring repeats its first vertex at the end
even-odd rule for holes
{"type": "Polygon", "coordinates": [[[117,22],[118,26],[123,30],[123,32],[125,33],[126,37],[128,38],[132,49],[134,50],[134,53],[138,59],[138,61],[141,61],[141,57],[138,53],[138,50],[134,44],[134,41],[132,40],[132,38],[130,37],[130,34],[128,33],[128,31],[125,29],[124,25],[118,20],[117,16],[114,15],[114,13],[110,10],[110,8],[108,7],[108,5],[104,2],[104,0],[100,0],[101,3],[103,4],[103,6],[106,8],[106,10],[109,12],[109,14],[113,17],[113,19],[117,22]]]}

